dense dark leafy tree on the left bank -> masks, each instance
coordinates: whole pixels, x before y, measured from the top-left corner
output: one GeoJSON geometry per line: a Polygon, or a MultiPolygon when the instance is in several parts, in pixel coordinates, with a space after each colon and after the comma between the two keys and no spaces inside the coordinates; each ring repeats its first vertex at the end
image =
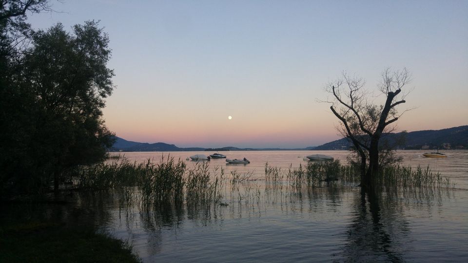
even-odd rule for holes
{"type": "Polygon", "coordinates": [[[20,11],[46,1],[8,2],[0,6],[1,191],[57,188],[65,169],[103,160],[112,145],[101,111],[114,88],[109,38],[94,21],[73,33],[61,24],[33,32],[20,11]]]}

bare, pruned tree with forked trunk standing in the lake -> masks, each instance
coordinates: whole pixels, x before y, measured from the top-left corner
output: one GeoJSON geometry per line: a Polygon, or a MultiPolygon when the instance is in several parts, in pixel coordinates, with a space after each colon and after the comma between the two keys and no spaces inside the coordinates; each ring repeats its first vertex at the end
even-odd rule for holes
{"type": "Polygon", "coordinates": [[[393,157],[392,147],[388,141],[381,144],[381,139],[394,131],[391,124],[402,115],[396,106],[406,102],[407,93],[402,93],[402,89],[409,81],[406,68],[402,71],[386,69],[378,85],[385,97],[380,105],[370,101],[371,93],[365,90],[363,78],[343,73],[341,78],[326,86],[326,91],[333,96],[331,112],[340,120],[338,130],[351,140],[359,156],[362,186],[372,187],[372,179],[378,176],[382,161],[393,157]]]}

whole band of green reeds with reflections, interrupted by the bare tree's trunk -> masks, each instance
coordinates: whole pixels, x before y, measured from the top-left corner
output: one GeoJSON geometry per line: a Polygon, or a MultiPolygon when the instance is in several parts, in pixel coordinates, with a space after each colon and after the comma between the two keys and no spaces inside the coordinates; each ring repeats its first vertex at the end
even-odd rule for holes
{"type": "MultiPolygon", "coordinates": [[[[307,166],[281,169],[265,164],[264,184],[258,184],[254,172],[231,171],[225,175],[223,168],[210,168],[208,162],[198,162],[191,167],[178,159],[162,156],[159,162],[130,162],[125,157],[118,162],[81,168],[75,174],[80,189],[117,188],[121,191],[122,207],[137,206],[144,211],[183,211],[198,217],[199,211],[229,204],[254,206],[262,202],[295,202],[313,189],[326,188],[328,192],[343,191],[360,183],[359,168],[342,165],[339,161],[309,162],[307,166]],[[270,199],[271,197],[278,198],[270,199]]],[[[431,169],[418,167],[386,166],[377,178],[379,186],[388,195],[416,194],[430,196],[430,192],[453,187],[449,178],[431,169]],[[421,190],[424,189],[424,190],[421,190]]],[[[412,197],[413,199],[416,197],[412,197]]]]}

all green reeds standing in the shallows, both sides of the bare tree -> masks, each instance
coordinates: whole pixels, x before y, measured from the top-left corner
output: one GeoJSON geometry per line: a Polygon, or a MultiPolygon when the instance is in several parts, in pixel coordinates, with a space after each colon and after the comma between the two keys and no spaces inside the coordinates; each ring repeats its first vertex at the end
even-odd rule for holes
{"type": "MultiPolygon", "coordinates": [[[[265,164],[265,189],[283,190],[313,188],[323,186],[356,186],[360,182],[359,169],[352,165],[342,165],[338,160],[330,162],[309,162],[307,166],[280,169],[265,164]]],[[[182,160],[162,156],[158,163],[148,160],[145,163],[130,162],[125,157],[111,164],[98,164],[81,169],[77,179],[81,189],[107,189],[135,187],[137,191],[126,193],[127,203],[135,200],[136,193],[145,206],[159,203],[164,206],[197,207],[225,203],[223,189],[229,185],[229,199],[237,196],[237,201],[259,199],[261,188],[252,184],[253,172],[232,171],[227,178],[224,169],[210,170],[208,162],[198,162],[188,168],[182,160]],[[244,190],[244,192],[240,192],[244,190]],[[171,205],[172,204],[172,205],[171,205]]],[[[413,169],[391,165],[382,169],[376,178],[384,188],[453,188],[449,178],[432,172],[429,167],[413,169]]],[[[296,190],[294,190],[296,191],[296,190]]]]}

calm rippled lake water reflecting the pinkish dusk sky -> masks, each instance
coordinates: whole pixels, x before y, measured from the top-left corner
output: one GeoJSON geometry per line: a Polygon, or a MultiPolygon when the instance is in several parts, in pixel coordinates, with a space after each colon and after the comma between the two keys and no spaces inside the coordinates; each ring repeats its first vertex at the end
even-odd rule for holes
{"type": "MultiPolygon", "coordinates": [[[[321,153],[346,163],[348,152],[227,151],[228,158],[246,157],[251,164],[214,159],[213,174],[223,168],[227,177],[235,170],[258,179],[235,191],[226,186],[221,200],[227,206],[142,209],[121,198],[132,189],[99,194],[99,202],[88,205],[102,211],[95,224],[132,244],[145,262],[468,262],[468,151],[447,151],[444,159],[425,158],[424,152],[398,154],[404,165],[429,165],[450,177],[454,189],[380,192],[371,201],[355,185],[268,188],[262,180],[266,162],[287,170],[321,153]]],[[[163,154],[185,161],[196,153],[212,152],[124,154],[158,162],[163,154]]]]}

